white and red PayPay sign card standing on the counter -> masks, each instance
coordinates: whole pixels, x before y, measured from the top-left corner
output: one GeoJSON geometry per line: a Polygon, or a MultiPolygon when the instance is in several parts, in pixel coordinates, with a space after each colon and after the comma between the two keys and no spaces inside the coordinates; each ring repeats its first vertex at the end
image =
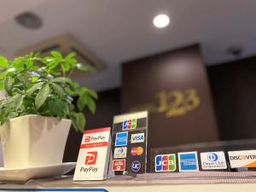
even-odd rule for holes
{"type": "Polygon", "coordinates": [[[108,177],[110,127],[84,131],[73,180],[104,180],[108,177]]]}

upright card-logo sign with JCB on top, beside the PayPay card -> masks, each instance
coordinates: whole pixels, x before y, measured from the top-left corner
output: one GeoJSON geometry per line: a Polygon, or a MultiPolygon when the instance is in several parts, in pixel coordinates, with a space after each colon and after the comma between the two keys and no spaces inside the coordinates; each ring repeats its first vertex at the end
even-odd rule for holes
{"type": "Polygon", "coordinates": [[[141,174],[147,167],[148,112],[113,117],[112,171],[141,174]]]}

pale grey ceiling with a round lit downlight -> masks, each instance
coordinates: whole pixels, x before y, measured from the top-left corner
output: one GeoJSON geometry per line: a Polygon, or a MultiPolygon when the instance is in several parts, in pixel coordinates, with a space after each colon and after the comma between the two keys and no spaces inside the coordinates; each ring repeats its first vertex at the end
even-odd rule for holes
{"type": "Polygon", "coordinates": [[[124,61],[200,43],[207,65],[235,60],[226,49],[241,44],[241,57],[256,54],[255,0],[2,0],[0,55],[61,34],[71,34],[108,66],[80,79],[96,90],[121,84],[124,61]],[[38,30],[15,23],[15,15],[32,11],[44,20],[38,30]],[[152,25],[154,15],[167,14],[170,26],[152,25]]]}

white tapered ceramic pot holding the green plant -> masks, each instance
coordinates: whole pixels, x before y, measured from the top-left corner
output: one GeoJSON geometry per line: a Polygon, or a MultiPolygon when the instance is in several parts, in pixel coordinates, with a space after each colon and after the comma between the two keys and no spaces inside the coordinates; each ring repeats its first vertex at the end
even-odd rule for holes
{"type": "Polygon", "coordinates": [[[0,127],[5,168],[61,164],[70,119],[26,115],[0,127]]]}

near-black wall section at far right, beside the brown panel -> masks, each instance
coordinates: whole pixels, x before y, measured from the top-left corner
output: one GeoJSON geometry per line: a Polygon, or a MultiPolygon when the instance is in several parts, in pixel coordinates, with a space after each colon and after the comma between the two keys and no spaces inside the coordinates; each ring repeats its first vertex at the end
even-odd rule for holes
{"type": "Polygon", "coordinates": [[[256,138],[256,57],[207,71],[221,139],[256,138]]]}

